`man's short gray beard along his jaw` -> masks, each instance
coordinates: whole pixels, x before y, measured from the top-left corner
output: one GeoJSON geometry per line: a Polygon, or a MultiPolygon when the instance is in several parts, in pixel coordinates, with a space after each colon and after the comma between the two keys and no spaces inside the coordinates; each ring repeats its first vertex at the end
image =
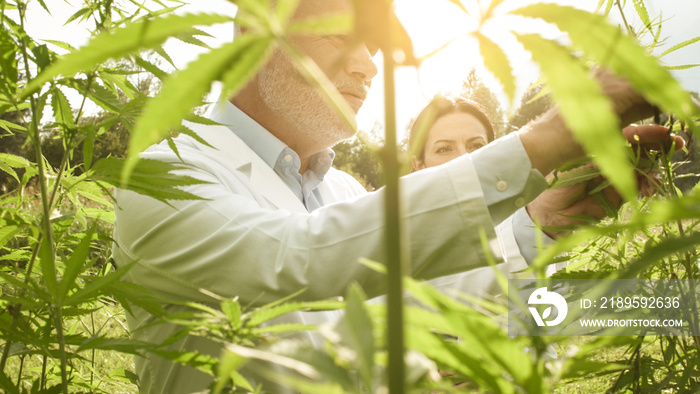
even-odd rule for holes
{"type": "Polygon", "coordinates": [[[275,51],[259,75],[260,95],[272,111],[294,124],[300,133],[330,145],[355,131],[330,107],[323,93],[311,86],[281,51],[275,51]]]}

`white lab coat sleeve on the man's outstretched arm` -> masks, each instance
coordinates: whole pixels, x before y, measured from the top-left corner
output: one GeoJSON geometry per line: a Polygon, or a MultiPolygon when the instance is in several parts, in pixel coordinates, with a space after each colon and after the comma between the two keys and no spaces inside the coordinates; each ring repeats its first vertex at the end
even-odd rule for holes
{"type": "MultiPolygon", "coordinates": [[[[352,282],[370,297],[385,291],[384,276],[359,263],[386,261],[383,190],[312,213],[292,212],[265,203],[260,195],[271,191],[251,186],[254,173],[226,168],[196,146],[181,146],[179,153],[190,166],[183,173],[210,182],[187,188],[203,200],[165,204],[117,193],[114,258],[119,266],[136,262],[127,280],[183,301],[212,301],[213,293],[250,306],[298,291],[297,300],[342,296],[352,282]]],[[[179,161],[163,145],[146,157],[179,161]]],[[[472,158],[463,156],[401,180],[413,276],[487,264],[480,230],[492,240],[495,234],[477,178],[472,158]]]]}

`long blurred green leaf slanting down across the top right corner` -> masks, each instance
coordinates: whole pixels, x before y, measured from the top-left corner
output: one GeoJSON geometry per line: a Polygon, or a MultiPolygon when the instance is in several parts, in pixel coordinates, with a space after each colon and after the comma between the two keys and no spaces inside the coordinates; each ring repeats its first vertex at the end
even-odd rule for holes
{"type": "Polygon", "coordinates": [[[593,56],[602,66],[627,78],[638,92],[664,112],[674,113],[687,124],[691,124],[700,113],[690,94],[659,64],[658,59],[617,26],[608,23],[604,16],[555,4],[534,4],[512,13],[555,24],[569,34],[574,46],[593,56]]]}

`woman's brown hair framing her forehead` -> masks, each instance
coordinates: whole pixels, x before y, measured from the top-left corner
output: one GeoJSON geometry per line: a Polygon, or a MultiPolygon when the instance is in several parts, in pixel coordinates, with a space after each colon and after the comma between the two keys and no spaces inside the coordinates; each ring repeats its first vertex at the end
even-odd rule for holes
{"type": "Polygon", "coordinates": [[[408,134],[408,146],[411,155],[418,160],[423,160],[425,155],[425,140],[428,131],[445,115],[465,113],[475,117],[486,129],[487,142],[495,139],[493,123],[486,114],[486,110],[479,103],[462,96],[437,95],[418,114],[411,125],[408,134]]]}

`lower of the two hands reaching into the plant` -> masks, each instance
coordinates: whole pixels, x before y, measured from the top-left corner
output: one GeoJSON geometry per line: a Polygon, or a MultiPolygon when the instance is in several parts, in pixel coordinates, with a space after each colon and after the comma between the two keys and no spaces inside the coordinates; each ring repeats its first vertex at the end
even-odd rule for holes
{"type": "MultiPolygon", "coordinates": [[[[640,149],[642,157],[648,157],[649,151],[669,151],[682,149],[685,141],[678,136],[669,134],[668,128],[659,125],[628,126],[623,129],[623,135],[632,144],[633,149],[640,149]]],[[[637,186],[639,191],[649,196],[660,186],[652,168],[638,167],[637,186]]],[[[577,183],[560,189],[549,189],[527,206],[527,212],[535,223],[543,227],[545,234],[556,238],[568,232],[572,225],[581,224],[581,216],[600,220],[607,216],[606,209],[600,205],[596,196],[589,194],[604,182],[602,177],[577,183]],[[561,231],[551,227],[564,226],[561,231]]],[[[622,204],[622,197],[612,186],[602,189],[599,193],[607,199],[613,209],[622,204]]]]}

